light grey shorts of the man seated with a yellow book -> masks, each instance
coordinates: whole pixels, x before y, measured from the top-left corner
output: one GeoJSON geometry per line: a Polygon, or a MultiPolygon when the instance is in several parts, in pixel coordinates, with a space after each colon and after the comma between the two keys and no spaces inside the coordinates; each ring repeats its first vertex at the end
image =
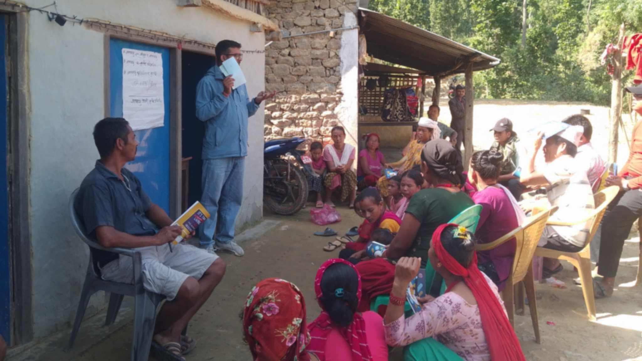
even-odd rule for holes
{"type": "MultiPolygon", "coordinates": [[[[178,294],[178,289],[187,277],[200,279],[214,261],[216,254],[186,243],[150,246],[136,249],[141,252],[143,263],[143,286],[146,290],[162,294],[172,301],[178,294]]],[[[107,263],[101,269],[105,281],[134,283],[134,265],[132,258],[120,255],[118,260],[107,263]]]]}

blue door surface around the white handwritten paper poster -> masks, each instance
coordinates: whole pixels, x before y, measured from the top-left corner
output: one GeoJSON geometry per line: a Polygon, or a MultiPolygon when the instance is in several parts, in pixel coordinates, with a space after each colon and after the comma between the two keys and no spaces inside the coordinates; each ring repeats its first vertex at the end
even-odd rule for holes
{"type": "Polygon", "coordinates": [[[165,119],[163,127],[135,131],[138,139],[136,159],[126,168],[141,180],[143,189],[169,214],[169,49],[111,39],[109,44],[110,114],[123,116],[122,49],[155,51],[162,56],[165,119]]]}

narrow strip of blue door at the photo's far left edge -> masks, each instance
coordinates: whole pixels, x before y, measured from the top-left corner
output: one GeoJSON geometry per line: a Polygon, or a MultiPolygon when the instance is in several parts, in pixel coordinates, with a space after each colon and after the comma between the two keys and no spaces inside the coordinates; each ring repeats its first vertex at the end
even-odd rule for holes
{"type": "Polygon", "coordinates": [[[11,272],[6,171],[6,15],[0,15],[0,335],[11,344],[11,272]]]}

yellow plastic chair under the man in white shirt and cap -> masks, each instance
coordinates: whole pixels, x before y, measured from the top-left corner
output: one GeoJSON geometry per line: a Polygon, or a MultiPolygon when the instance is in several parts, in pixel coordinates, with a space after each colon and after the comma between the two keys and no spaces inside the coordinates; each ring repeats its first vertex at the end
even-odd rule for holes
{"type": "MultiPolygon", "coordinates": [[[[595,208],[591,210],[584,218],[573,220],[573,222],[559,222],[557,220],[548,220],[547,225],[577,225],[584,224],[589,220],[593,220],[591,225],[591,233],[586,238],[586,247],[580,252],[562,252],[555,251],[554,249],[548,249],[543,247],[537,247],[535,250],[535,256],[555,258],[556,260],[566,260],[569,261],[573,266],[575,266],[580,273],[580,281],[582,283],[582,292],[584,293],[584,302],[586,303],[586,310],[588,312],[589,320],[595,320],[595,297],[593,295],[593,277],[591,276],[591,240],[602,222],[602,217],[606,211],[606,207],[609,206],[609,203],[618,195],[620,188],[617,186],[610,186],[602,189],[598,193],[595,193],[594,202],[595,208]]],[[[530,297],[528,298],[530,303],[530,297]]]]}

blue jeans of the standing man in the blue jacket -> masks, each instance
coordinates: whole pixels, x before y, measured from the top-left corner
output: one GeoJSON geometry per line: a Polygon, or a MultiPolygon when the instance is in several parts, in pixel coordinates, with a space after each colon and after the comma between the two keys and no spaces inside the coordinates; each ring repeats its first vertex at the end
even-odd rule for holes
{"type": "Polygon", "coordinates": [[[245,157],[203,160],[201,203],[209,219],[200,227],[200,245],[207,247],[234,240],[234,224],[243,201],[245,157]]]}

